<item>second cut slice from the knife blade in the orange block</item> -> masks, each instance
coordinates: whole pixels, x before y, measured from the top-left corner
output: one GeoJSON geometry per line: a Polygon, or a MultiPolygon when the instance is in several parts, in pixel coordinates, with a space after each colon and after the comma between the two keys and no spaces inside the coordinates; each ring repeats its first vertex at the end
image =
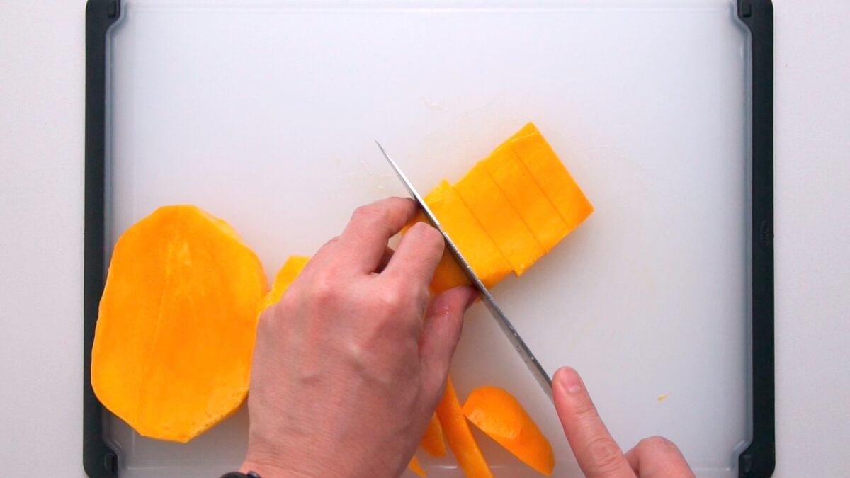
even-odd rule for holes
{"type": "Polygon", "coordinates": [[[476,164],[454,187],[517,276],[546,253],[483,163],[476,164]]]}

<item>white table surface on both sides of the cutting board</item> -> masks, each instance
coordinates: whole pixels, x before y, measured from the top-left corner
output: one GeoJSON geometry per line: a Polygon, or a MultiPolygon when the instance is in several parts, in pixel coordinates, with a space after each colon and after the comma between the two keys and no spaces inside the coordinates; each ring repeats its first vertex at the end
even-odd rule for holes
{"type": "MultiPolygon", "coordinates": [[[[845,476],[850,3],[774,3],[775,476],[845,476]]],[[[84,475],[84,37],[82,1],[0,0],[0,464],[28,475],[84,475]]]]}

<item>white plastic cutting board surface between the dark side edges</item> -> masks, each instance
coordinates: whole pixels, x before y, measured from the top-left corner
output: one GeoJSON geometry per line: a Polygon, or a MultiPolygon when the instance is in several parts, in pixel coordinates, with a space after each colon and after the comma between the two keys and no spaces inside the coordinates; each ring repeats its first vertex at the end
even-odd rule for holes
{"type": "MultiPolygon", "coordinates": [[[[734,476],[751,433],[747,41],[730,0],[127,0],[108,41],[108,243],[191,202],[271,277],[354,207],[405,195],[372,139],[428,191],[532,120],[596,211],[496,299],[549,373],[580,371],[622,447],[665,435],[698,475],[734,476]]],[[[462,398],[517,395],[555,475],[579,474],[480,305],[452,374],[462,398]]],[[[243,457],[247,414],[186,445],[106,428],[122,476],[213,476],[243,457]]],[[[479,439],[497,476],[535,475],[479,439]]]]}

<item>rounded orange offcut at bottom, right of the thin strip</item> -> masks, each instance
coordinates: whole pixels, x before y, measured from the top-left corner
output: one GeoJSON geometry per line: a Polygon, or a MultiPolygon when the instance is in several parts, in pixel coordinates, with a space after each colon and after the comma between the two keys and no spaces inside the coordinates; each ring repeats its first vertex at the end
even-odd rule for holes
{"type": "Polygon", "coordinates": [[[524,464],[552,475],[552,445],[513,395],[498,387],[479,387],[467,397],[463,414],[524,464]]]}

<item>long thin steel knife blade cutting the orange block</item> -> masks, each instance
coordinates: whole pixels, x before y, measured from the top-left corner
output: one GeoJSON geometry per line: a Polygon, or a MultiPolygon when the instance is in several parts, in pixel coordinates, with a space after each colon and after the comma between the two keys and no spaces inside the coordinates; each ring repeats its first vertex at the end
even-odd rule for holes
{"type": "Polygon", "coordinates": [[[443,229],[443,226],[439,224],[439,219],[434,215],[431,208],[428,208],[428,204],[425,203],[425,200],[422,198],[422,195],[419,194],[419,191],[416,191],[416,187],[413,186],[410,179],[407,179],[407,176],[401,171],[399,165],[393,161],[387,151],[383,149],[381,143],[375,140],[375,144],[381,150],[383,156],[389,162],[389,165],[395,171],[395,174],[401,179],[401,182],[405,185],[407,191],[411,194],[413,199],[419,205],[419,208],[422,209],[422,212],[425,213],[425,217],[428,218],[428,221],[433,225],[434,228],[439,230],[440,234],[443,235],[443,239],[445,239],[445,245],[449,248],[449,252],[457,261],[457,264],[461,266],[461,268],[466,272],[469,280],[473,283],[473,286],[478,289],[481,294],[481,299],[484,302],[484,305],[487,307],[487,310],[490,310],[490,315],[496,319],[496,324],[499,325],[501,332],[505,334],[507,340],[513,345],[513,349],[517,351],[519,356],[523,359],[525,363],[525,367],[528,367],[531,375],[537,380],[537,384],[541,386],[543,393],[549,397],[549,400],[552,400],[552,378],[549,377],[549,374],[546,373],[546,370],[541,366],[540,361],[537,360],[536,356],[531,352],[528,345],[525,344],[525,341],[522,337],[519,336],[517,330],[513,327],[511,321],[505,316],[505,313],[502,312],[499,304],[496,304],[496,300],[493,299],[492,294],[484,286],[484,282],[481,282],[481,278],[478,274],[475,273],[473,268],[467,262],[467,259],[464,259],[463,254],[460,249],[457,248],[454,241],[451,240],[449,234],[443,229]]]}

